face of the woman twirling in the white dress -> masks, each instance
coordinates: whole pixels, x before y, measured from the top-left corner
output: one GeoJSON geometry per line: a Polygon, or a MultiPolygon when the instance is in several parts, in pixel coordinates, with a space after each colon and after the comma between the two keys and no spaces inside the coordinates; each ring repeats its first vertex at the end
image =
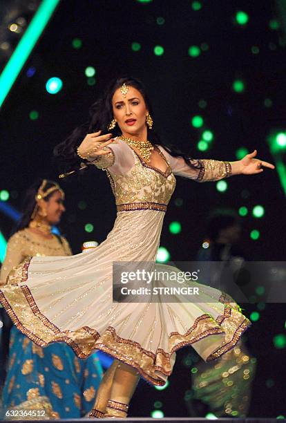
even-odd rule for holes
{"type": "Polygon", "coordinates": [[[140,135],[146,132],[148,110],[140,91],[128,86],[125,97],[118,88],[113,95],[113,116],[125,136],[140,135]]]}

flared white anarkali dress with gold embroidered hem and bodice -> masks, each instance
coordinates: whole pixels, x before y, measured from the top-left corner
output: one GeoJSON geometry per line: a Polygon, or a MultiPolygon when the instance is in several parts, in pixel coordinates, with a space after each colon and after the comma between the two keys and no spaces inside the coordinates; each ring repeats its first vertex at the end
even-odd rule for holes
{"type": "MultiPolygon", "coordinates": [[[[219,180],[227,176],[229,163],[194,160],[197,168],[190,168],[159,146],[168,166],[162,172],[119,138],[109,147],[95,162],[106,170],[117,205],[106,240],[89,254],[27,259],[1,286],[0,301],[17,328],[39,346],[64,341],[80,358],[102,350],[162,386],[176,350],[192,346],[205,361],[216,359],[236,345],[250,322],[226,294],[195,282],[187,285],[200,287],[196,303],[179,297],[169,303],[113,302],[113,262],[155,262],[174,174],[219,180]]],[[[179,271],[161,264],[155,268],[179,271]]]]}

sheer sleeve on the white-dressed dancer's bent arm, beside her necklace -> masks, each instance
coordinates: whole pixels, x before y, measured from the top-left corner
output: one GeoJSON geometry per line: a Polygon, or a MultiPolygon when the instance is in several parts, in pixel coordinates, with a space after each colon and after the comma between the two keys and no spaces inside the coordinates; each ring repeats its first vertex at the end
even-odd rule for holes
{"type": "Polygon", "coordinates": [[[111,173],[123,174],[133,167],[134,157],[131,148],[122,140],[116,140],[108,144],[108,154],[99,156],[92,161],[98,169],[108,169],[111,173]]]}

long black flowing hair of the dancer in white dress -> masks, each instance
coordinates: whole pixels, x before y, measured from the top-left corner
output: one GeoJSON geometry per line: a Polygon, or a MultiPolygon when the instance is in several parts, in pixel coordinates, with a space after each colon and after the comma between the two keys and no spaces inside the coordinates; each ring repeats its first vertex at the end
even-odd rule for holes
{"type": "MultiPolygon", "coordinates": [[[[151,116],[153,116],[153,109],[151,106],[150,99],[146,94],[146,90],[142,82],[139,79],[135,79],[133,77],[120,77],[118,79],[113,80],[111,84],[108,86],[106,92],[102,97],[99,98],[95,103],[90,106],[89,109],[89,120],[75,128],[75,130],[70,133],[68,138],[57,144],[54,149],[54,155],[57,158],[57,162],[59,165],[60,171],[64,173],[68,173],[69,171],[79,170],[82,166],[81,163],[85,162],[88,164],[87,160],[83,160],[77,156],[77,147],[79,144],[82,143],[87,133],[93,133],[96,131],[101,130],[101,135],[109,133],[107,127],[108,124],[111,123],[113,120],[113,106],[112,106],[112,99],[115,91],[117,88],[120,88],[123,84],[127,86],[133,86],[142,94],[144,98],[144,102],[146,104],[146,108],[148,109],[151,116]]],[[[147,138],[152,144],[159,144],[162,145],[168,151],[171,156],[173,157],[182,157],[184,161],[189,165],[191,168],[200,169],[201,164],[197,160],[190,162],[189,156],[182,153],[182,151],[176,149],[175,147],[165,144],[160,140],[158,133],[155,131],[147,129],[147,138]]],[[[113,136],[122,135],[120,128],[118,125],[112,130],[113,136]]]]}

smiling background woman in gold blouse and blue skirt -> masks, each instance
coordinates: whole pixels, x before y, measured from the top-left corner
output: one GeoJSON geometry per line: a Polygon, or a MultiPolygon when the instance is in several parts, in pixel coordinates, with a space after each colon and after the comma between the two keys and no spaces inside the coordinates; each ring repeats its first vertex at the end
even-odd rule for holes
{"type": "MultiPolygon", "coordinates": [[[[1,267],[3,282],[27,256],[72,254],[66,238],[50,232],[65,211],[64,191],[56,182],[36,181],[26,191],[22,208],[23,216],[8,241],[1,267]]],[[[50,419],[82,417],[94,407],[101,380],[102,367],[95,354],[81,360],[66,344],[43,349],[12,327],[2,408],[26,410],[28,419],[31,409],[44,411],[43,417],[50,419]]]]}

